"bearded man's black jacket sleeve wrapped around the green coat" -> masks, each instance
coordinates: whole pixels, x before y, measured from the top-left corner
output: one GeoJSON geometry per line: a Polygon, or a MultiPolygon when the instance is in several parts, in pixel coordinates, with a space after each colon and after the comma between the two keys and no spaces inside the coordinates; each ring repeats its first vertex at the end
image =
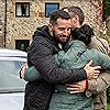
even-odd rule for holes
{"type": "Polygon", "coordinates": [[[28,57],[47,82],[65,84],[76,82],[87,78],[84,69],[66,70],[56,64],[53,50],[46,42],[34,40],[29,50],[28,57]]]}

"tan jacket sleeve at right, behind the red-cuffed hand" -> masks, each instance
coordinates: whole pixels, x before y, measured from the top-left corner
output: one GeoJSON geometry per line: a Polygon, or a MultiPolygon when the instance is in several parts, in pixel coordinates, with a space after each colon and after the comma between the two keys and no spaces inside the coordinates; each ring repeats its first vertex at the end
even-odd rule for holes
{"type": "Polygon", "coordinates": [[[97,79],[88,80],[87,96],[105,91],[110,86],[110,72],[105,72],[97,79]]]}

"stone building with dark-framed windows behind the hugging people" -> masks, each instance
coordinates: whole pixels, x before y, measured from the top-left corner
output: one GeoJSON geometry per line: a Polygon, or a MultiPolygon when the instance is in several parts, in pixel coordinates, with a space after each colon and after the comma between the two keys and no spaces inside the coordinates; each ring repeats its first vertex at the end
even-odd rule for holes
{"type": "Polygon", "coordinates": [[[26,50],[37,26],[48,23],[52,11],[78,6],[96,34],[102,24],[102,0],[0,0],[0,47],[26,50]]]}

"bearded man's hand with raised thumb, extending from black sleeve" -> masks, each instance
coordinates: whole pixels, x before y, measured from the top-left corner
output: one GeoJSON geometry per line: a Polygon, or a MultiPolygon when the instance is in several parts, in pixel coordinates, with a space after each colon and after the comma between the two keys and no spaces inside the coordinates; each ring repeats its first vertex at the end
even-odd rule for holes
{"type": "Polygon", "coordinates": [[[88,79],[92,79],[92,78],[98,78],[99,74],[100,74],[100,66],[95,66],[91,67],[90,65],[92,64],[92,61],[90,61],[85,67],[84,69],[87,73],[87,78],[88,79]]]}

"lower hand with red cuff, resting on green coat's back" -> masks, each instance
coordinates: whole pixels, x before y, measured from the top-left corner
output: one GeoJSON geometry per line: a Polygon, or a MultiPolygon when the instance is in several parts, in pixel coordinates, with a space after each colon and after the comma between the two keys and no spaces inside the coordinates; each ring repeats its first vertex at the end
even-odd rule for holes
{"type": "Polygon", "coordinates": [[[87,81],[86,80],[81,80],[79,82],[74,82],[74,84],[67,84],[66,85],[67,90],[70,91],[70,94],[78,94],[78,92],[85,92],[85,90],[87,89],[87,81]]]}

